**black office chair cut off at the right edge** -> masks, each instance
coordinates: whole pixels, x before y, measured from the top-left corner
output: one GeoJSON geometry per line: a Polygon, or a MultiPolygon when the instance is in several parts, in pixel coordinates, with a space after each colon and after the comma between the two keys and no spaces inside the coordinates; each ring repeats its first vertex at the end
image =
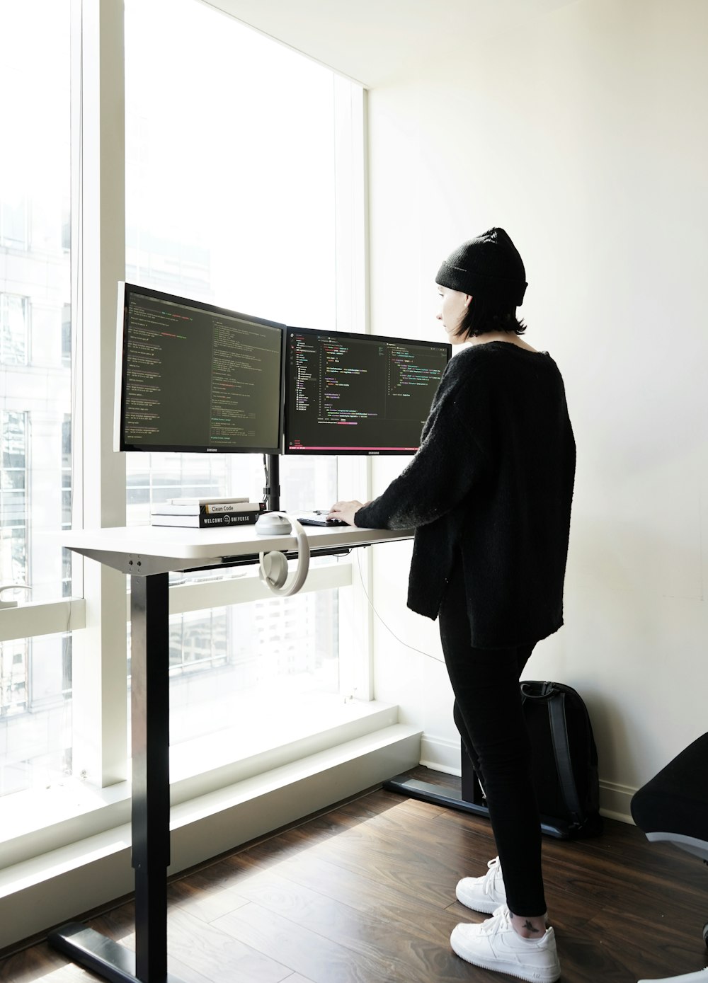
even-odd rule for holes
{"type": "MultiPolygon", "coordinates": [[[[634,793],[632,819],[646,838],[675,843],[708,864],[708,733],[698,737],[634,793]]],[[[708,945],[708,924],[703,926],[708,945]]],[[[708,983],[708,967],[639,983],[708,983]]]]}

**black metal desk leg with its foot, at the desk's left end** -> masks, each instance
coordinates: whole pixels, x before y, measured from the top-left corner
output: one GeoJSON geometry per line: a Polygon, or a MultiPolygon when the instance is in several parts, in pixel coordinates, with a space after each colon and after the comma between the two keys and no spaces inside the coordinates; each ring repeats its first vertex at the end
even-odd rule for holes
{"type": "Polygon", "coordinates": [[[136,952],[78,922],[49,942],[111,983],[179,983],[167,974],[169,865],[168,575],[131,577],[133,867],[136,952]]]}

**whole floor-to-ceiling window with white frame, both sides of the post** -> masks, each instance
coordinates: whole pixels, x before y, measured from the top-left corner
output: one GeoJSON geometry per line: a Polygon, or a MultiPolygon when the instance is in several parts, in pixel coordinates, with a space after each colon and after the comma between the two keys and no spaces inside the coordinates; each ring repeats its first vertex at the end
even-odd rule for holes
{"type": "MultiPolygon", "coordinates": [[[[360,87],[198,0],[23,0],[0,6],[0,37],[0,85],[13,93],[0,155],[0,584],[28,585],[3,600],[36,606],[0,633],[3,794],[55,786],[73,769],[89,785],[129,773],[128,712],[114,698],[124,582],[98,584],[97,564],[56,534],[82,515],[121,525],[124,505],[128,524],[147,523],[151,505],[174,495],[260,499],[266,485],[262,456],[248,454],[131,453],[120,482],[102,480],[119,457],[103,375],[115,325],[105,299],[123,272],[111,244],[125,234],[129,281],[246,314],[361,330],[364,305],[360,87]],[[99,37],[105,75],[82,92],[99,37]],[[113,120],[124,86],[123,160],[106,149],[122,128],[98,124],[105,105],[113,120]],[[100,184],[92,172],[86,181],[96,160],[100,184]],[[87,627],[78,636],[77,623],[87,627]]],[[[335,458],[281,458],[282,507],[324,507],[338,481],[335,458]]],[[[277,721],[287,742],[288,722],[316,728],[320,705],[331,721],[357,673],[339,651],[347,571],[317,570],[327,562],[313,563],[317,590],[287,599],[253,600],[253,568],[232,572],[225,590],[214,573],[172,578],[182,591],[170,621],[176,748],[213,743],[235,720],[251,722],[256,743],[277,721]]]]}

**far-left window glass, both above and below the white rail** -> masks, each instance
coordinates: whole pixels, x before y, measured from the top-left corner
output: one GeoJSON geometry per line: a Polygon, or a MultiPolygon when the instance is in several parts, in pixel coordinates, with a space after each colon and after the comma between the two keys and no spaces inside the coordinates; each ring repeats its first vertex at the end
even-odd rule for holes
{"type": "MultiPolygon", "coordinates": [[[[1,4],[0,38],[0,584],[47,602],[71,593],[45,535],[71,521],[69,0],[1,4]]],[[[71,769],[71,706],[69,637],[0,643],[0,794],[71,769]]]]}

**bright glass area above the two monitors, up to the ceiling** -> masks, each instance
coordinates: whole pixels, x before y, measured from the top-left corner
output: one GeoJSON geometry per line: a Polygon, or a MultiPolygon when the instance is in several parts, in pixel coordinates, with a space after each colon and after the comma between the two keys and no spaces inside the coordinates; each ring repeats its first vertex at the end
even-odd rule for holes
{"type": "Polygon", "coordinates": [[[333,73],[196,0],[125,11],[127,278],[331,324],[333,73]]]}

